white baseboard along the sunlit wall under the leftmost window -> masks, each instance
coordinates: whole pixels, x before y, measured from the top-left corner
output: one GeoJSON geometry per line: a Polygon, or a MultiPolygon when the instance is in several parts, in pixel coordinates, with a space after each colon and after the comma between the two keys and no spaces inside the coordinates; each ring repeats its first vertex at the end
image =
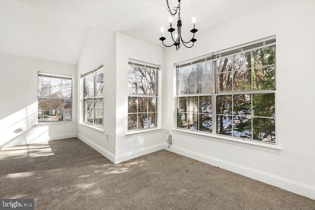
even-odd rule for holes
{"type": "Polygon", "coordinates": [[[0,146],[0,148],[21,146],[21,145],[27,145],[27,144],[32,144],[32,143],[42,143],[42,142],[61,140],[61,139],[75,138],[76,135],[77,135],[76,133],[67,133],[67,134],[49,136],[49,139],[46,139],[46,138],[44,138],[44,139],[36,138],[34,140],[18,139],[18,140],[14,140],[14,141],[8,142],[6,144],[3,144],[3,146],[0,146]]]}

